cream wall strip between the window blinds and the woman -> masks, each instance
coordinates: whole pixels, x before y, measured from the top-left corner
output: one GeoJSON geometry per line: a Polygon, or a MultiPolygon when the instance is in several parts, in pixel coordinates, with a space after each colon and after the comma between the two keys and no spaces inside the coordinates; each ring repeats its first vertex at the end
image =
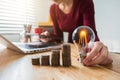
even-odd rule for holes
{"type": "Polygon", "coordinates": [[[34,0],[35,1],[35,12],[36,22],[45,22],[49,16],[49,7],[52,0],[34,0]],[[36,6],[39,5],[39,6],[36,6]]]}

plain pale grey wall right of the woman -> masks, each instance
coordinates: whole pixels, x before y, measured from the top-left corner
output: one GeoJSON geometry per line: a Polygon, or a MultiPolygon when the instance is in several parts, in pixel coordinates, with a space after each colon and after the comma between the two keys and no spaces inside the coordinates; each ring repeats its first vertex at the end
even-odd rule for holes
{"type": "Polygon", "coordinates": [[[94,0],[98,35],[110,51],[120,52],[120,0],[94,0]]]}

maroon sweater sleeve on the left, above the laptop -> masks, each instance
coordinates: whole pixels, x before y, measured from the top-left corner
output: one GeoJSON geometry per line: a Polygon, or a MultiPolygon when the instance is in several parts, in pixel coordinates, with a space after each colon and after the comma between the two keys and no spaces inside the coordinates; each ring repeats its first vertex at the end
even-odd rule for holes
{"type": "Polygon", "coordinates": [[[54,36],[57,37],[58,39],[56,39],[56,41],[60,41],[63,38],[63,32],[60,30],[59,25],[58,25],[58,21],[57,21],[57,11],[56,11],[56,5],[53,4],[50,7],[50,16],[53,22],[53,29],[54,29],[54,36]]]}

